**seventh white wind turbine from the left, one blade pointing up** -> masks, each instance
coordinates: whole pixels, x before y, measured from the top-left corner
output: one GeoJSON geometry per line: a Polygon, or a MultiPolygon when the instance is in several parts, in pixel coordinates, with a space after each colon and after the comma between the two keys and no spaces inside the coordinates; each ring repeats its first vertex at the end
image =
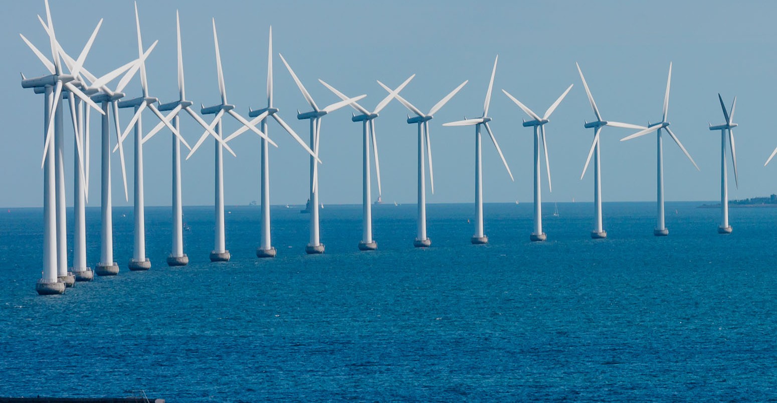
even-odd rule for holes
{"type": "Polygon", "coordinates": [[[218,50],[218,35],[216,34],[216,20],[213,19],[213,42],[216,50],[216,70],[218,73],[218,90],[221,93],[221,103],[215,106],[203,107],[200,113],[204,115],[215,114],[213,121],[207,127],[207,131],[200,136],[200,140],[194,145],[194,148],[190,151],[186,159],[189,159],[193,155],[194,151],[200,147],[208,134],[216,138],[217,144],[215,149],[215,209],[216,209],[216,225],[215,225],[215,241],[214,249],[211,252],[211,262],[228,262],[231,255],[226,249],[225,230],[224,230],[224,167],[223,167],[223,148],[226,148],[233,156],[235,152],[226,144],[227,140],[222,137],[221,132],[221,118],[225,113],[232,115],[236,120],[242,123],[243,126],[249,128],[254,133],[259,134],[260,137],[270,141],[277,147],[274,141],[270,140],[265,134],[251,124],[246,118],[240,116],[235,112],[235,106],[227,103],[227,90],[224,85],[224,74],[221,70],[221,54],[218,50]],[[215,128],[215,134],[212,133],[215,128]]]}

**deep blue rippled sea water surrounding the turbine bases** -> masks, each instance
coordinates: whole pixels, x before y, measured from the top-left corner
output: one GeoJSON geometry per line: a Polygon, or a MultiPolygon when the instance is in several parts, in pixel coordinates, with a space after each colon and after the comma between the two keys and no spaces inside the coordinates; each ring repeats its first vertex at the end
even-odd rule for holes
{"type": "MultiPolygon", "coordinates": [[[[169,207],[146,210],[148,272],[126,269],[132,211],[114,210],[119,276],[39,297],[40,209],[0,214],[0,396],[137,395],[167,401],[766,401],[777,398],[777,209],[605,203],[375,207],[378,251],[359,252],[360,206],[273,208],[276,259],[256,259],[258,207],[227,207],[232,261],[211,263],[213,210],[185,207],[190,265],[169,268],[169,207]],[[676,210],[676,213],[675,213],[676,210]],[[122,217],[121,214],[126,214],[122,217]]],[[[87,212],[89,262],[99,210],[87,212]]],[[[70,241],[70,239],[68,239],[70,241]]]]}

